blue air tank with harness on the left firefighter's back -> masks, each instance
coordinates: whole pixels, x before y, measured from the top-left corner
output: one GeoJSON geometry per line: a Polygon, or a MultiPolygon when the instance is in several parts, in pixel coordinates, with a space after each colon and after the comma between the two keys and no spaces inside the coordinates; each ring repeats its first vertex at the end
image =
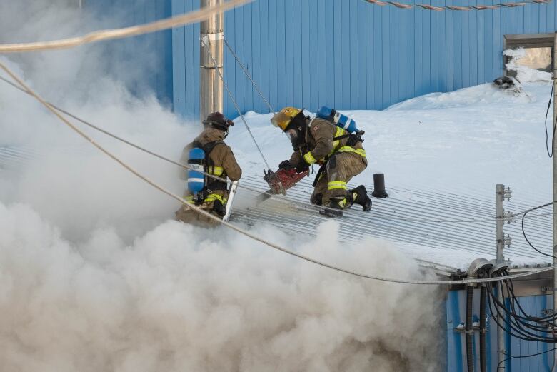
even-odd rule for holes
{"type": "Polygon", "coordinates": [[[209,157],[215,146],[224,144],[222,141],[212,141],[201,145],[199,141],[194,141],[194,148],[189,151],[188,158],[188,190],[191,193],[191,202],[196,206],[203,203],[213,202],[213,211],[219,216],[226,214],[226,200],[214,194],[214,191],[226,191],[226,174],[224,170],[216,167],[209,157]],[[203,172],[203,173],[201,173],[203,172]],[[207,176],[212,174],[219,178],[207,176]]]}

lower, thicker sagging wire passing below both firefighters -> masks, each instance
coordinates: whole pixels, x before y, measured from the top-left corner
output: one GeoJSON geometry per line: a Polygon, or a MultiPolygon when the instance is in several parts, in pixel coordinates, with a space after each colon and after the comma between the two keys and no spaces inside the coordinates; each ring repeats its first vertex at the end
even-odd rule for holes
{"type": "MultiPolygon", "coordinates": [[[[291,256],[294,256],[296,258],[300,258],[304,261],[315,263],[316,265],[322,266],[324,268],[330,268],[331,270],[338,271],[338,272],[341,272],[341,273],[346,273],[346,274],[351,275],[351,276],[357,276],[359,278],[367,278],[367,279],[372,279],[372,280],[376,280],[376,281],[383,281],[383,282],[386,282],[386,283],[455,286],[455,285],[458,285],[458,284],[488,283],[488,282],[496,282],[496,281],[504,280],[504,278],[501,278],[501,277],[494,277],[494,278],[461,279],[461,280],[458,280],[458,281],[424,281],[424,280],[409,280],[409,279],[404,280],[404,279],[398,279],[398,278],[388,278],[388,277],[384,277],[384,276],[372,276],[372,275],[367,275],[367,274],[363,274],[363,273],[357,273],[355,271],[350,271],[350,270],[347,270],[347,269],[344,269],[344,268],[339,268],[338,266],[333,266],[333,265],[330,265],[328,263],[323,263],[321,261],[317,261],[316,259],[313,259],[313,258],[310,258],[310,257],[307,257],[307,256],[303,256],[302,254],[296,253],[296,252],[294,252],[292,250],[289,250],[287,248],[283,248],[282,246],[279,246],[278,244],[272,243],[271,241],[267,241],[266,239],[261,238],[259,236],[256,236],[253,233],[250,233],[249,231],[246,231],[242,228],[239,228],[238,226],[234,226],[232,223],[222,221],[221,218],[216,217],[213,214],[208,213],[208,212],[204,211],[203,209],[201,209],[201,208],[199,208],[199,207],[197,207],[197,206],[195,206],[191,203],[188,203],[186,200],[184,200],[184,198],[181,198],[180,196],[177,196],[176,194],[172,193],[171,191],[166,190],[166,188],[160,186],[159,184],[156,184],[156,182],[151,181],[151,179],[148,179],[146,176],[139,173],[139,171],[136,171],[134,168],[132,168],[131,166],[126,164],[124,161],[119,159],[116,155],[114,155],[110,151],[104,149],[103,146],[97,144],[93,139],[91,139],[90,136],[88,136],[86,133],[84,133],[84,131],[81,131],[74,124],[71,124],[71,122],[68,119],[64,118],[64,116],[62,116],[58,111],[56,111],[56,109],[54,109],[53,106],[51,106],[48,102],[46,102],[44,99],[42,99],[41,96],[39,96],[33,90],[31,90],[31,88],[29,88],[29,86],[27,86],[24,83],[24,81],[19,79],[19,77],[16,76],[16,74],[14,74],[14,72],[12,72],[1,61],[0,61],[0,69],[3,69],[4,71],[6,71],[6,74],[11,76],[12,79],[14,79],[31,96],[33,96],[37,101],[39,101],[43,106],[45,106],[46,109],[51,111],[52,114],[54,114],[58,119],[60,119],[64,124],[66,124],[66,126],[69,126],[69,128],[74,130],[77,134],[79,134],[79,136],[81,136],[84,139],[86,139],[87,141],[89,141],[90,144],[95,146],[97,149],[99,149],[101,152],[103,152],[106,156],[109,156],[111,159],[113,159],[118,164],[123,166],[125,169],[130,171],[132,174],[139,177],[139,179],[142,179],[147,184],[153,186],[154,188],[156,188],[157,190],[166,194],[167,196],[170,196],[171,198],[176,199],[176,201],[179,201],[180,203],[188,206],[189,208],[191,208],[191,210],[195,211],[196,213],[199,213],[203,216],[211,218],[212,220],[214,220],[218,223],[221,223],[222,225],[224,225],[226,227],[229,227],[232,230],[243,234],[244,236],[248,236],[249,238],[252,238],[255,241],[259,241],[260,243],[264,243],[266,246],[274,248],[278,251],[282,251],[283,253],[287,253],[287,254],[289,254],[291,256]]],[[[532,275],[536,275],[538,273],[551,271],[551,270],[554,270],[556,268],[557,268],[557,265],[553,265],[553,266],[548,266],[546,268],[540,268],[538,270],[533,270],[533,271],[529,271],[529,272],[525,272],[525,273],[516,273],[516,274],[513,274],[511,276],[506,277],[506,279],[524,278],[526,276],[532,276],[532,275]]]]}

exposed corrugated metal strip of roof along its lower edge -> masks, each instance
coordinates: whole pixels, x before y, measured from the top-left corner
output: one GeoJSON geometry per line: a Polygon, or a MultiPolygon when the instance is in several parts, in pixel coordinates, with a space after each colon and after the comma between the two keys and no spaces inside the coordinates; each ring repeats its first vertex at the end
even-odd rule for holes
{"type": "MultiPolygon", "coordinates": [[[[241,183],[266,190],[265,181],[253,176],[244,176],[241,183]]],[[[366,185],[366,188],[370,193],[373,190],[371,185],[366,185]]],[[[361,211],[360,206],[353,206],[342,218],[336,218],[340,224],[339,236],[346,241],[356,241],[364,236],[384,238],[396,242],[401,250],[423,263],[447,271],[467,268],[475,258],[495,258],[495,188],[493,185],[493,196],[489,197],[489,191],[477,195],[391,187],[387,190],[388,198],[373,198],[371,212],[366,213],[361,211]]],[[[245,203],[239,203],[234,206],[231,221],[249,224],[264,221],[286,231],[315,235],[316,225],[328,221],[328,218],[319,215],[318,208],[300,204],[308,203],[311,190],[311,182],[303,180],[288,190],[287,196],[276,196],[259,206],[246,207],[243,206],[245,203]]],[[[239,191],[239,198],[251,196],[254,196],[251,191],[239,191]]],[[[504,207],[507,211],[518,213],[539,204],[539,201],[519,200],[518,196],[513,196],[511,201],[505,201],[504,207]]],[[[548,212],[551,212],[551,207],[531,212],[528,216],[538,217],[526,218],[525,221],[528,239],[544,253],[551,253],[552,217],[548,212]]],[[[528,246],[521,232],[520,218],[506,223],[503,231],[513,238],[511,246],[504,251],[513,266],[545,266],[550,262],[551,258],[528,246]]]]}

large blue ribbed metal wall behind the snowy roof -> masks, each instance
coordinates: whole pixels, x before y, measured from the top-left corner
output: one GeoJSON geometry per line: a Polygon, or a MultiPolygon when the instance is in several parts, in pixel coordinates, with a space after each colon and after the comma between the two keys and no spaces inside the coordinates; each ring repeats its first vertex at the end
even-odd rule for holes
{"type": "MultiPolygon", "coordinates": [[[[424,0],[476,5],[508,0],[424,0]]],[[[171,0],[172,13],[199,0],[171,0]]],[[[413,4],[413,1],[403,1],[413,4]]],[[[503,35],[557,29],[556,2],[484,11],[427,11],[363,0],[256,0],[226,12],[225,36],[276,108],[384,109],[503,74],[503,35]]],[[[174,109],[199,115],[199,24],[172,32],[174,109]]],[[[268,112],[226,52],[224,75],[242,111],[268,112]]],[[[225,111],[234,116],[226,97],[225,111]]]]}

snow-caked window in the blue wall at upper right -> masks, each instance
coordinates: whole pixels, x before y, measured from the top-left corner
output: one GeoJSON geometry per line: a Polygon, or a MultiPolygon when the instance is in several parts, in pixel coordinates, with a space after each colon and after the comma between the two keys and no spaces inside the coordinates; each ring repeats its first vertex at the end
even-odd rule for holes
{"type": "Polygon", "coordinates": [[[507,76],[516,76],[513,66],[525,66],[530,69],[551,72],[553,70],[554,34],[519,34],[505,35],[503,52],[503,69],[507,76]]]}

